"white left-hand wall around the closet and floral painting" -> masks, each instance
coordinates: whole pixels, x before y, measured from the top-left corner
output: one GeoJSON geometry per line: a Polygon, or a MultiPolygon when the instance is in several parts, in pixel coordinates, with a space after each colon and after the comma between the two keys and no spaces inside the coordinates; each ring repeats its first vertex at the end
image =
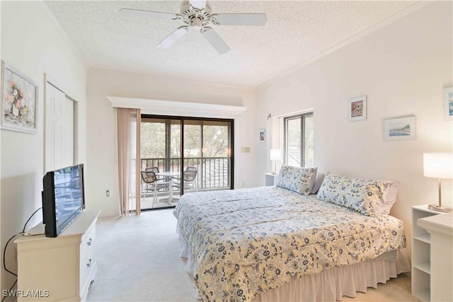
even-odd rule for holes
{"type": "MultiPolygon", "coordinates": [[[[39,84],[38,133],[1,130],[1,252],[41,207],[44,175],[44,74],[79,101],[79,158],[86,158],[86,66],[41,1],[1,1],[1,59],[39,84]]],[[[38,212],[28,228],[42,221],[38,212]]],[[[11,244],[11,243],[10,243],[11,244]]],[[[16,272],[14,245],[6,265],[16,272]]],[[[1,289],[14,279],[1,269],[1,289]]]]}

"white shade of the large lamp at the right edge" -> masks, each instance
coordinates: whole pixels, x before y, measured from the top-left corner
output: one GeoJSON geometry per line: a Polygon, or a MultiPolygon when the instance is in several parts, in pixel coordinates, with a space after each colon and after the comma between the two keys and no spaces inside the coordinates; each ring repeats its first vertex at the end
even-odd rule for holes
{"type": "Polygon", "coordinates": [[[453,178],[453,153],[423,153],[423,176],[453,178]]]}

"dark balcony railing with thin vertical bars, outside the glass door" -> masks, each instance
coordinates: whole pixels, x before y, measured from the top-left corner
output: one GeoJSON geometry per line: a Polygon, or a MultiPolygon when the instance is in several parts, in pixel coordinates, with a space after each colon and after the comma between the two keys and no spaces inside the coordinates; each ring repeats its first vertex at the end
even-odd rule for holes
{"type": "MultiPolygon", "coordinates": [[[[142,158],[141,168],[158,167],[159,171],[180,171],[181,158],[142,158]]],[[[132,163],[134,164],[134,163],[132,163]]],[[[231,160],[229,157],[184,158],[183,167],[197,168],[197,187],[203,189],[230,188],[231,160]]]]}

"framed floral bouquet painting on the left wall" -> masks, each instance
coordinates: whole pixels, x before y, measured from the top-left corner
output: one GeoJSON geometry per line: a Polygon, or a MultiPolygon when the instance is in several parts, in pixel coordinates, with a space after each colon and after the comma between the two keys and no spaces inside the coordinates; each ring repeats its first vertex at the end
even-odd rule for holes
{"type": "Polygon", "coordinates": [[[0,128],[18,132],[37,132],[38,84],[1,62],[0,128]]]}

